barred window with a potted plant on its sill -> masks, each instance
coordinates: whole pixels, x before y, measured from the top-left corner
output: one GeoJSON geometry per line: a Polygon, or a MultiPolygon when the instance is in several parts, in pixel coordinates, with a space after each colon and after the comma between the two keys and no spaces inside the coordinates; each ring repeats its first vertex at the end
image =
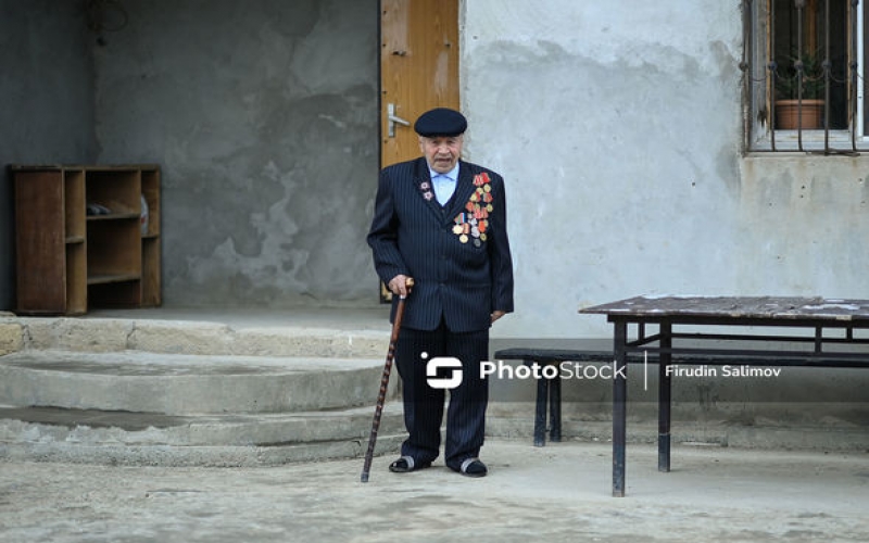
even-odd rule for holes
{"type": "Polygon", "coordinates": [[[743,0],[745,147],[869,151],[859,0],[743,0]]]}

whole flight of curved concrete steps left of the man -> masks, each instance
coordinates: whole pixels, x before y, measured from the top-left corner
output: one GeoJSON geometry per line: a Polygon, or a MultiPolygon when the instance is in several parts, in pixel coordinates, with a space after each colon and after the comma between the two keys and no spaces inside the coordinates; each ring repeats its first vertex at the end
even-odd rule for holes
{"type": "MultiPolygon", "coordinates": [[[[289,320],[0,317],[0,458],[255,466],[362,456],[388,324],[289,320]]],[[[398,382],[395,371],[390,401],[398,382]]],[[[377,454],[398,451],[401,413],[388,402],[377,454]]]]}

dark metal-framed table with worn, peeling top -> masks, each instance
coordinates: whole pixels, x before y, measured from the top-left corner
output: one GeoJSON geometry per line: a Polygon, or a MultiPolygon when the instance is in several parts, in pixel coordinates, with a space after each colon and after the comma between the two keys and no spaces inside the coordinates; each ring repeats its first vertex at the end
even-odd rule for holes
{"type": "Polygon", "coordinates": [[[769,366],[869,366],[869,350],[865,349],[869,339],[854,334],[855,330],[869,328],[869,300],[638,296],[587,307],[580,313],[604,314],[614,324],[614,496],[625,495],[629,353],[655,356],[658,363],[659,471],[670,470],[671,376],[666,368],[673,356],[680,361],[692,355],[705,359],[720,356],[729,364],[769,366]],[[634,325],[630,327],[634,329],[631,336],[629,325],[634,325]],[[646,330],[650,325],[656,330],[646,330]],[[710,327],[715,327],[714,332],[710,327]],[[833,330],[834,334],[828,332],[833,330]]]}

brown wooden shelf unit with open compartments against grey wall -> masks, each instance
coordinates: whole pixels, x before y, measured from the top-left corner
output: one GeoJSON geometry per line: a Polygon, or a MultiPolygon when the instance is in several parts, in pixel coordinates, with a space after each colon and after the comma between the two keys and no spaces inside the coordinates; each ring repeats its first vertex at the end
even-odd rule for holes
{"type": "Polygon", "coordinates": [[[10,171],[17,313],[81,315],[89,307],[161,305],[159,166],[12,165],[10,171]],[[89,213],[90,204],[108,213],[89,213]]]}

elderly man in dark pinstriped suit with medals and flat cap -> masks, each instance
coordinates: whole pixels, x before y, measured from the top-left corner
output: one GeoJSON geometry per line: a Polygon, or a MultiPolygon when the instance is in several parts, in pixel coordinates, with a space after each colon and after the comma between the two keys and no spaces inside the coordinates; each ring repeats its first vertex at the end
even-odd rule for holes
{"type": "Polygon", "coordinates": [[[480,362],[492,323],[513,311],[513,263],[504,180],[462,160],[466,128],[457,111],[424,113],[414,125],[423,156],[380,172],[368,244],[394,301],[407,295],[395,362],[408,437],[393,472],[427,468],[439,455],[449,381],[429,383],[432,359],[461,363],[453,368],[461,382],[450,389],[445,464],[469,477],[488,472],[479,458],[489,401],[480,362]]]}

